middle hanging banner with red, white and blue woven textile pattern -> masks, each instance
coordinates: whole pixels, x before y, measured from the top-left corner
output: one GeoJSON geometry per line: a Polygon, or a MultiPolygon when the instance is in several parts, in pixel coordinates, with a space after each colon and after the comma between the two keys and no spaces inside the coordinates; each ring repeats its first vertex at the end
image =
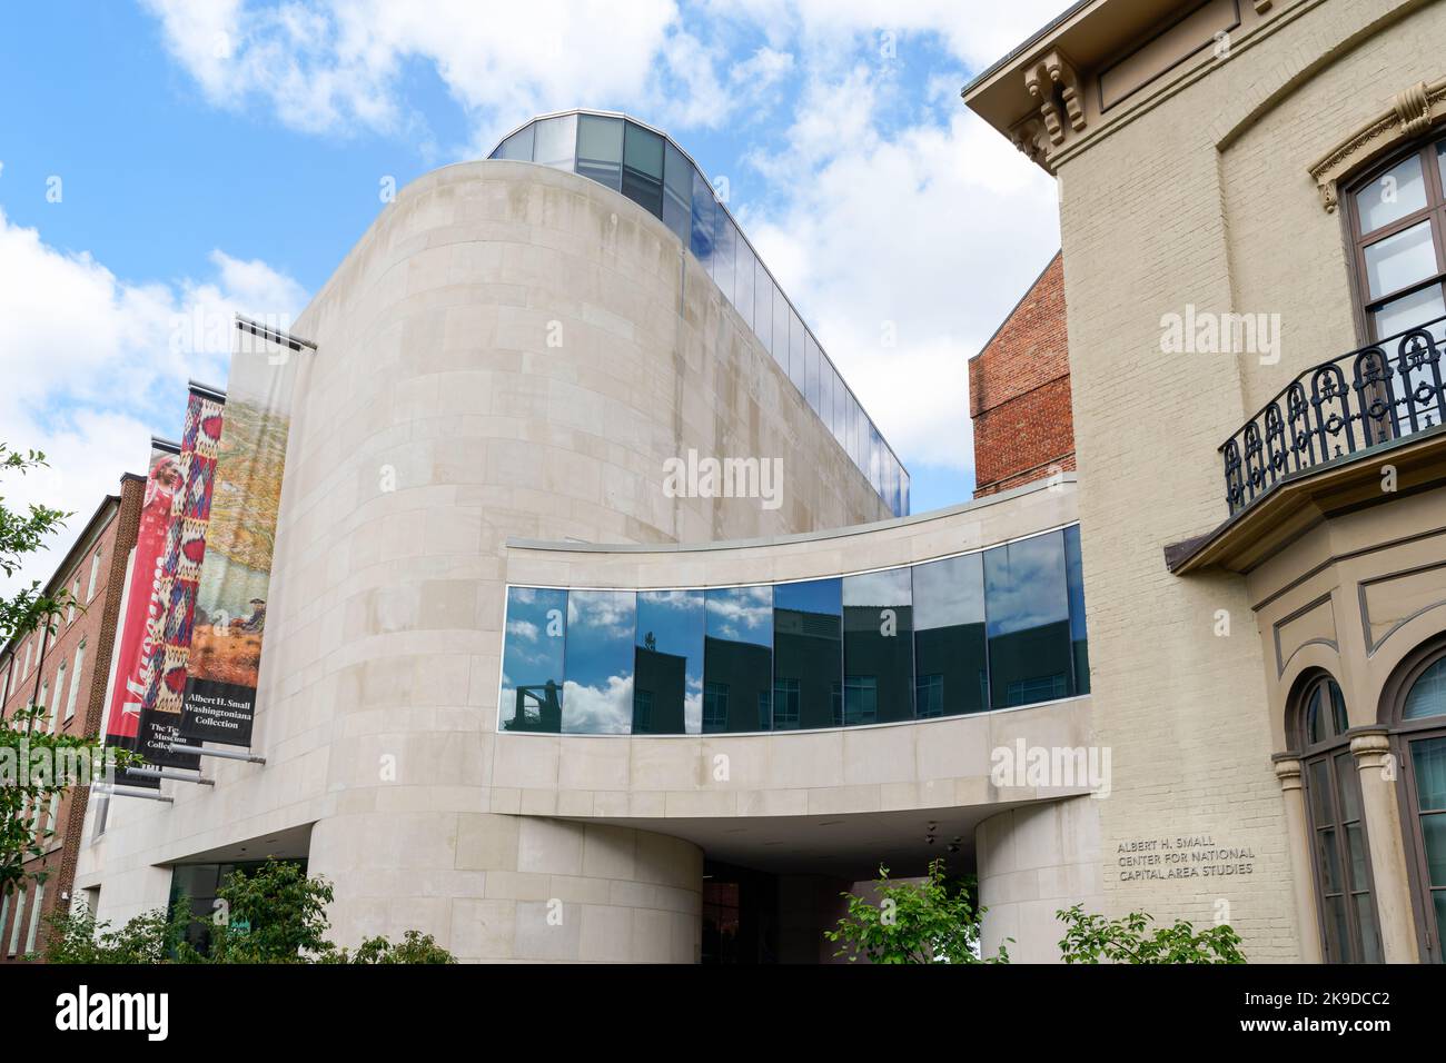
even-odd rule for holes
{"type": "Polygon", "coordinates": [[[205,557],[224,404],[220,392],[191,385],[181,434],[181,490],[175,498],[175,519],[161,564],[165,615],[161,639],[152,645],[146,662],[146,693],[140,710],[142,754],[150,764],[166,768],[197,768],[201,762],[197,754],[172,752],[171,743],[184,740],[181,696],[191,651],[197,584],[205,557]]]}

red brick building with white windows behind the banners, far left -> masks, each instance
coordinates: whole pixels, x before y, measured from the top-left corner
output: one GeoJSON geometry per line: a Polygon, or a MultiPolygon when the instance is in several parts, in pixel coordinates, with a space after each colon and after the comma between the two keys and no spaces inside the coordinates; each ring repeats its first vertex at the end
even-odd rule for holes
{"type": "MultiPolygon", "coordinates": [[[[52,735],[98,735],[106,707],[111,645],[126,586],[126,561],[136,542],[146,480],[127,473],[120,493],[107,495],[62,558],[45,592],[69,592],[74,605],[54,631],[35,631],[0,649],[0,713],[10,720],[30,704],[46,706],[40,720],[52,735]]],[[[75,862],[90,791],[74,788],[32,810],[32,829],[52,832],[45,855],[26,863],[45,871],[42,884],[0,900],[0,963],[13,963],[43,944],[48,915],[71,904],[75,862]]]]}

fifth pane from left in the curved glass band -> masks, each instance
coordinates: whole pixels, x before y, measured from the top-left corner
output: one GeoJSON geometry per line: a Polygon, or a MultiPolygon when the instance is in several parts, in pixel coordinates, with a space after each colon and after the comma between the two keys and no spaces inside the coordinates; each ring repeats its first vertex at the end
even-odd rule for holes
{"type": "Polygon", "coordinates": [[[774,587],[774,729],[837,727],[842,719],[840,580],[774,587]]]}

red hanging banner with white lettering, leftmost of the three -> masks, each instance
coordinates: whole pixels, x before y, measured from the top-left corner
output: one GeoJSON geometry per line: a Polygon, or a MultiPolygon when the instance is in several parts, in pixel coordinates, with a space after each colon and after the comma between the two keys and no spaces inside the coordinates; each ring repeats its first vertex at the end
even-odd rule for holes
{"type": "MultiPolygon", "coordinates": [[[[165,440],[150,441],[150,469],[140,505],[136,545],[126,567],[124,590],[116,641],[114,680],[106,713],[106,745],[134,751],[139,745],[140,706],[146,693],[146,661],[161,638],[165,603],[161,599],[161,563],[174,522],[174,499],[181,489],[181,448],[165,440]]],[[[129,780],[158,785],[155,780],[129,780]]]]}

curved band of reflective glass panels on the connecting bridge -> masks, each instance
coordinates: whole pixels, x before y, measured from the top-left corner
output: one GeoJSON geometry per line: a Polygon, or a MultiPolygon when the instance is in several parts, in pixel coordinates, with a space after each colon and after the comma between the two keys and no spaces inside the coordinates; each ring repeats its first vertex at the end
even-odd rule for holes
{"type": "Polygon", "coordinates": [[[1087,694],[1079,529],[821,580],[508,590],[499,726],[816,730],[1087,694]]]}

